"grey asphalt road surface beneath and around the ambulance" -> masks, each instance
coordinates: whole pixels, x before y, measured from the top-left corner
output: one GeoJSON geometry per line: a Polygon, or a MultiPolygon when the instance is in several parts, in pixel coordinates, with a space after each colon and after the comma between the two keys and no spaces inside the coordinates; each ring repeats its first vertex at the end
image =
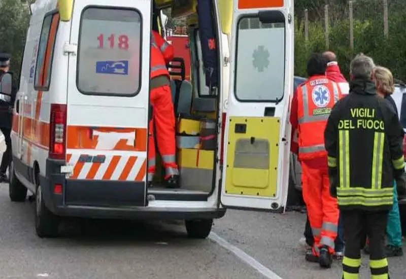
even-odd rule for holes
{"type": "MultiPolygon", "coordinates": [[[[283,279],[340,278],[338,261],[328,270],[304,261],[300,213],[228,211],[206,240],[188,239],[182,223],[103,220],[66,220],[61,237],[40,239],[33,214],[33,203],[12,203],[0,184],[0,278],[278,279],[261,268],[283,279]]],[[[406,277],[406,257],[389,262],[392,279],[406,277]]],[[[364,258],[361,278],[368,274],[364,258]]]]}

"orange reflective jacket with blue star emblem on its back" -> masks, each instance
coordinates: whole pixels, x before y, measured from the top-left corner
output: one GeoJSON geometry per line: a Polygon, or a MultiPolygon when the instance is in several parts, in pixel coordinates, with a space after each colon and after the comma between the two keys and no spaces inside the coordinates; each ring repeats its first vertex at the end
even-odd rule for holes
{"type": "Polygon", "coordinates": [[[311,77],[297,89],[299,159],[327,157],[324,129],[334,104],[343,97],[326,76],[311,77]]]}

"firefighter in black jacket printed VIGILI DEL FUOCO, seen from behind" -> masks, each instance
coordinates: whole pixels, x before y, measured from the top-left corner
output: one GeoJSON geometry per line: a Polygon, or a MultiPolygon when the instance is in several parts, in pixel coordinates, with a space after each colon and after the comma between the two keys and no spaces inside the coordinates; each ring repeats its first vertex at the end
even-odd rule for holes
{"type": "Polygon", "coordinates": [[[343,278],[359,278],[361,239],[370,239],[372,278],[389,278],[385,232],[393,203],[393,180],[405,192],[403,129],[371,80],[374,61],[351,62],[350,94],[338,101],[324,132],[331,195],[338,197],[344,237],[343,278]]]}

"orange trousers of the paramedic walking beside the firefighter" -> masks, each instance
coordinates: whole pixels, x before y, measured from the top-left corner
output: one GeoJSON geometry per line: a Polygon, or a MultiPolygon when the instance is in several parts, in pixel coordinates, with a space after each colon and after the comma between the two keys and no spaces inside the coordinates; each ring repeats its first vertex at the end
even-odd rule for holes
{"type": "Polygon", "coordinates": [[[301,162],[303,199],[314,237],[313,253],[317,256],[320,254],[319,248],[324,245],[334,254],[340,214],[337,199],[330,195],[327,158],[325,161],[322,167],[315,167],[307,161],[301,162]]]}

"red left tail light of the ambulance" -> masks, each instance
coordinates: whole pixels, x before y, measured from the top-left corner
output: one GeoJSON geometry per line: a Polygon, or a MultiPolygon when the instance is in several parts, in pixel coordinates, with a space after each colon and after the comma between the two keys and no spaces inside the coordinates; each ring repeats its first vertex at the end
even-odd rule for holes
{"type": "Polygon", "coordinates": [[[49,158],[65,159],[66,155],[66,104],[51,104],[49,127],[49,158]]]}

